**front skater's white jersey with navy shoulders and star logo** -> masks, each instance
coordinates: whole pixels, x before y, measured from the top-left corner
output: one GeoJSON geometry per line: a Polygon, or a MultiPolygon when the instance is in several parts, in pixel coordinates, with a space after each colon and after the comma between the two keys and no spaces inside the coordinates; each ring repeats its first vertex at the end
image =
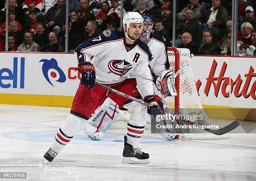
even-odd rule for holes
{"type": "Polygon", "coordinates": [[[96,81],[116,84],[130,78],[133,73],[142,97],[154,94],[153,77],[149,63],[151,51],[140,40],[128,48],[123,31],[103,31],[100,36],[90,38],[74,51],[77,61],[91,61],[95,66],[96,81]]]}

